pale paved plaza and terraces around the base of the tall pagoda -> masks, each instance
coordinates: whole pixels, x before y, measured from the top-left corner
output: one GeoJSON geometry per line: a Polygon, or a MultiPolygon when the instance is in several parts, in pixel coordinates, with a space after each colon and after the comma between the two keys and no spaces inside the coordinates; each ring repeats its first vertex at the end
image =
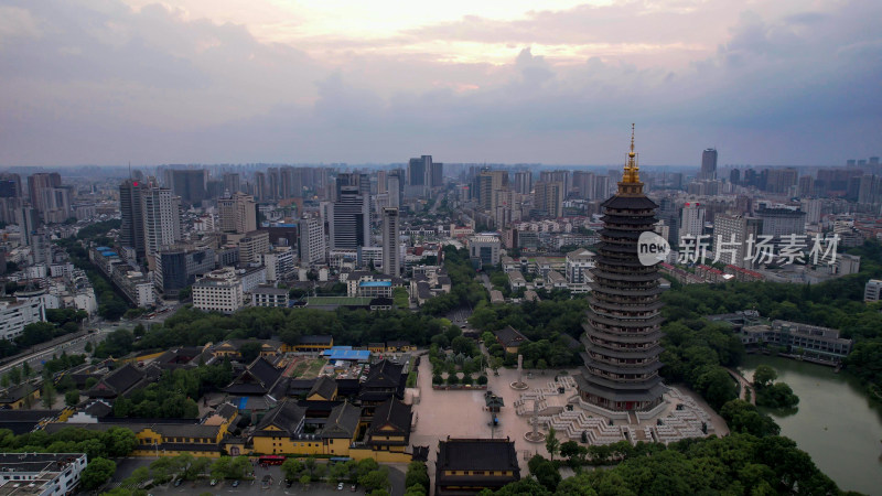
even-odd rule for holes
{"type": "Polygon", "coordinates": [[[611,444],[623,440],[673,442],[729,433],[722,418],[698,395],[682,387],[671,388],[665,395],[665,402],[653,414],[612,412],[614,418],[611,419],[607,412],[573,398],[578,395],[571,377],[573,374],[578,370],[568,370],[568,374],[525,370],[523,380],[527,389],[516,390],[510,385],[518,380],[517,370],[499,369],[498,376],[491,371],[487,391],[502,397],[505,402],[498,413],[492,413],[485,406],[485,390],[432,389],[431,365],[428,357],[423,357],[419,366],[419,391],[409,395],[415,397],[416,422],[410,444],[429,446],[429,471],[432,474],[439,440],[448,436],[508,438],[515,442],[521,470],[526,471],[525,462],[534,454],[548,456],[545,442],[534,443],[525,439],[525,434],[533,431],[534,400],[539,403],[538,432],[544,436],[548,425],[553,425],[561,442],[581,442],[582,432],[585,432],[588,444],[611,444]],[[492,422],[494,417],[498,420],[495,427],[492,422]]]}

